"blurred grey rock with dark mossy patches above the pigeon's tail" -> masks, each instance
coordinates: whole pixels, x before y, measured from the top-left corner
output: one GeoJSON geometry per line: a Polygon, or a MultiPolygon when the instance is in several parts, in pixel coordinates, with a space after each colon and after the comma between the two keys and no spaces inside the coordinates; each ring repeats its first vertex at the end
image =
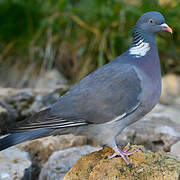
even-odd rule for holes
{"type": "Polygon", "coordinates": [[[68,90],[60,85],[55,90],[0,88],[0,133],[9,125],[39,112],[54,103],[68,90]]]}

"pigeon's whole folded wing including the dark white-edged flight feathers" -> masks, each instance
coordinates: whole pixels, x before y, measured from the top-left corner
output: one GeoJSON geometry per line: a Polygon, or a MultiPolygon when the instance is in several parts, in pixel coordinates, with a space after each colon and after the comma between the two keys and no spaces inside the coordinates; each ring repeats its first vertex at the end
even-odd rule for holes
{"type": "Polygon", "coordinates": [[[49,109],[13,128],[66,128],[121,119],[141,102],[141,80],[133,65],[111,62],[86,76],[49,109]]]}

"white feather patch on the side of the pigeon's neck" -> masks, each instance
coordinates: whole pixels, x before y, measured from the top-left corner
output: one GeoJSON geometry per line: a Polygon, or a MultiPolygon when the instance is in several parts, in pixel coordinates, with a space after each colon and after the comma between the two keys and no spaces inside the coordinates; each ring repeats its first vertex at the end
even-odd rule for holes
{"type": "Polygon", "coordinates": [[[136,58],[140,58],[146,55],[146,53],[150,50],[149,43],[143,42],[141,39],[136,43],[134,47],[129,49],[129,54],[134,55],[136,58]]]}

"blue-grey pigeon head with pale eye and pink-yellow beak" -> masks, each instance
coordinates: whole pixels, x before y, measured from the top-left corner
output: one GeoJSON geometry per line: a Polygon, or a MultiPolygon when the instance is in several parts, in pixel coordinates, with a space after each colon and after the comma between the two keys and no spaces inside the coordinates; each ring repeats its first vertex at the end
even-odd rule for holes
{"type": "Polygon", "coordinates": [[[135,28],[152,34],[157,34],[161,31],[172,33],[172,29],[166,24],[164,16],[156,11],[144,13],[137,21],[135,28]]]}

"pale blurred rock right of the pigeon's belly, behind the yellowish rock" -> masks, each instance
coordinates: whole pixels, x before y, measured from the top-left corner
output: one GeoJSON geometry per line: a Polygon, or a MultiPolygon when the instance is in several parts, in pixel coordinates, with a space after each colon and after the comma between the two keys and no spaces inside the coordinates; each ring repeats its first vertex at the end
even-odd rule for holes
{"type": "Polygon", "coordinates": [[[180,124],[171,121],[165,107],[158,105],[145,118],[127,127],[119,135],[119,142],[144,145],[151,151],[170,151],[170,147],[180,140],[180,124]]]}

